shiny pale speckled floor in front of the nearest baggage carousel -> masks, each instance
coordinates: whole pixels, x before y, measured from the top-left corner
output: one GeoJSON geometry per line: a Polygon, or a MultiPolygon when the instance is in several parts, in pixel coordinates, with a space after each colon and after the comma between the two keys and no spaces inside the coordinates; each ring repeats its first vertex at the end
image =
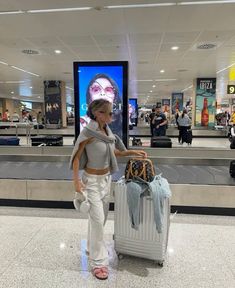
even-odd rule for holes
{"type": "Polygon", "coordinates": [[[0,207],[0,287],[235,287],[235,218],[171,215],[167,258],[153,261],[113,249],[113,213],[105,228],[110,277],[96,280],[86,249],[87,219],[74,210],[0,207]]]}

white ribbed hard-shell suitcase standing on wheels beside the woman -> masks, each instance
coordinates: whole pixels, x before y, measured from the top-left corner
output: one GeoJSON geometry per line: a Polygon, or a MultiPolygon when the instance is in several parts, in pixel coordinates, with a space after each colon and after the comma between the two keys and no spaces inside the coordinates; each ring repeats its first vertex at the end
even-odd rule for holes
{"type": "Polygon", "coordinates": [[[142,219],[138,230],[131,227],[124,180],[116,182],[114,199],[114,249],[119,259],[126,254],[151,259],[163,266],[170,225],[169,199],[164,201],[163,227],[160,234],[156,229],[153,201],[150,197],[143,197],[142,219]]]}

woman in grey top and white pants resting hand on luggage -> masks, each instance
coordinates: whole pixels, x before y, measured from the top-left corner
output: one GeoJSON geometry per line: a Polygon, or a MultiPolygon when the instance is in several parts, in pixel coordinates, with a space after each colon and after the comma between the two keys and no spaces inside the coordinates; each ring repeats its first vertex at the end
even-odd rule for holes
{"type": "Polygon", "coordinates": [[[147,157],[141,150],[126,150],[108,124],[112,122],[112,104],[94,100],[88,107],[91,121],[80,133],[71,156],[74,187],[90,204],[87,251],[93,275],[108,278],[108,251],[104,243],[104,224],[109,209],[111,174],[118,170],[116,156],[147,157]],[[117,148],[118,147],[118,148],[117,148]],[[82,179],[78,171],[84,169],[82,179]]]}

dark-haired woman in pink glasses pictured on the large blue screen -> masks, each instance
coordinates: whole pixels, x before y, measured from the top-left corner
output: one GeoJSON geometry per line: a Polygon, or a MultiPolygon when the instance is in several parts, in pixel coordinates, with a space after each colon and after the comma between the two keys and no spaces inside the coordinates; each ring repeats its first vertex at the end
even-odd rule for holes
{"type": "MultiPolygon", "coordinates": [[[[113,121],[110,128],[122,138],[122,101],[116,82],[106,74],[96,74],[87,86],[86,103],[105,99],[113,104],[113,121]]],[[[80,131],[90,122],[88,115],[80,118],[80,131]]]]}

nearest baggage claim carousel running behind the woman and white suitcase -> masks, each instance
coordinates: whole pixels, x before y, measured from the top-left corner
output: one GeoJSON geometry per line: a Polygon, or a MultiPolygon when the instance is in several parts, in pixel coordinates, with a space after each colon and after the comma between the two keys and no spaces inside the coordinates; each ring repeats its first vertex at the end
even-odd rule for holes
{"type": "MultiPolygon", "coordinates": [[[[1,147],[0,205],[73,209],[73,147],[1,147]]],[[[172,190],[171,211],[235,215],[235,179],[229,175],[233,150],[145,148],[156,172],[172,190]]],[[[124,174],[128,158],[119,158],[115,182],[124,174]]]]}

